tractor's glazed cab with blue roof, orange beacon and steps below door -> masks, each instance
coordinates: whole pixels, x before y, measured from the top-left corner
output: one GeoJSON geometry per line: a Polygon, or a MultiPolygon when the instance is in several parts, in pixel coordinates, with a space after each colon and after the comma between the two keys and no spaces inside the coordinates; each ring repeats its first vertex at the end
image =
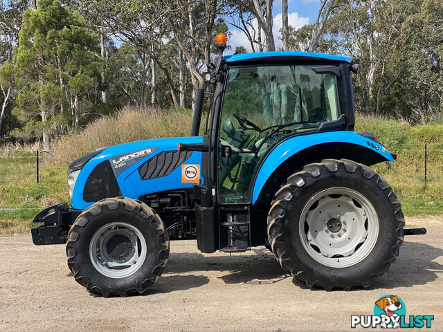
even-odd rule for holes
{"type": "MultiPolygon", "coordinates": [[[[262,193],[267,196],[258,202],[253,191],[271,151],[289,138],[303,140],[309,134],[354,128],[350,71],[357,69],[358,60],[297,52],[222,57],[223,39],[217,42],[219,58],[206,82],[211,100],[204,144],[181,145],[180,149],[203,152],[206,184],[195,185],[195,192],[199,197],[203,189],[210,196],[206,199],[210,206],[201,210],[197,200],[197,236],[215,232],[214,237],[200,237],[199,248],[239,252],[258,243],[269,246],[263,232],[266,212],[260,208],[266,211],[271,192],[284,179],[276,176],[269,192],[262,193]],[[205,222],[199,222],[199,216],[205,222]],[[251,218],[257,228],[252,232],[251,218]]],[[[197,100],[196,104],[202,103],[197,100]]],[[[200,115],[201,110],[195,109],[194,116],[200,115]]]]}

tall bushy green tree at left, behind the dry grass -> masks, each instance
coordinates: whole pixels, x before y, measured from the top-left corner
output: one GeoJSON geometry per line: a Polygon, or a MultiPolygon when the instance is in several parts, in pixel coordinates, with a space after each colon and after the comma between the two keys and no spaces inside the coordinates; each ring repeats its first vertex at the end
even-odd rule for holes
{"type": "Polygon", "coordinates": [[[37,10],[24,12],[13,59],[21,89],[15,114],[26,130],[17,136],[41,136],[48,149],[51,132],[79,126],[90,113],[81,112],[82,98],[99,84],[103,62],[97,50],[98,36],[60,1],[42,0],[37,10]]]}

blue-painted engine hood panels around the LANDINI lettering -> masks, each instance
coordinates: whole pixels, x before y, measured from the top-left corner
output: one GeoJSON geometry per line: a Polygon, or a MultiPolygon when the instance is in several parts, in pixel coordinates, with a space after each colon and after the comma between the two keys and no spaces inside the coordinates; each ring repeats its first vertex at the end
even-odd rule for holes
{"type": "MultiPolygon", "coordinates": [[[[103,160],[119,156],[121,154],[127,154],[130,151],[136,151],[141,149],[157,149],[137,160],[134,165],[131,165],[117,177],[117,183],[120,187],[120,191],[123,196],[131,199],[138,199],[141,195],[152,194],[154,192],[163,192],[165,190],[180,190],[184,188],[192,188],[193,183],[181,182],[181,167],[178,167],[171,174],[163,176],[161,178],[152,178],[150,180],[142,180],[140,174],[138,174],[138,167],[143,165],[146,160],[156,156],[163,151],[177,151],[177,145],[179,143],[201,143],[203,137],[179,137],[179,138],[159,138],[153,140],[141,140],[138,142],[129,142],[125,144],[115,145],[114,147],[108,147],[100,152],[97,156],[89,160],[82,168],[78,175],[77,181],[73,191],[73,197],[71,200],[72,206],[78,210],[84,210],[92,205],[91,202],[85,202],[83,200],[84,185],[87,182],[89,174],[91,174],[94,167],[100,164],[103,160]]],[[[201,164],[201,152],[192,152],[192,155],[186,164],[201,164]]],[[[201,183],[204,183],[203,176],[201,177],[201,183]]]]}

